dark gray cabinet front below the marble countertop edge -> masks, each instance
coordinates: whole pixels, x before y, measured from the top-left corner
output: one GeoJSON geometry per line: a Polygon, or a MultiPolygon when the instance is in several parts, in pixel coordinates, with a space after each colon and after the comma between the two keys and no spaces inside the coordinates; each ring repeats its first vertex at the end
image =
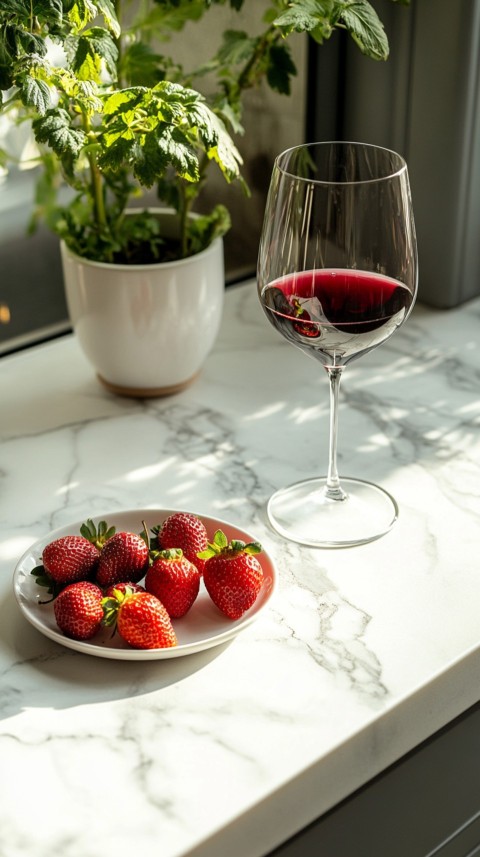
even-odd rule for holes
{"type": "Polygon", "coordinates": [[[480,857],[480,705],[268,857],[480,857]]]}

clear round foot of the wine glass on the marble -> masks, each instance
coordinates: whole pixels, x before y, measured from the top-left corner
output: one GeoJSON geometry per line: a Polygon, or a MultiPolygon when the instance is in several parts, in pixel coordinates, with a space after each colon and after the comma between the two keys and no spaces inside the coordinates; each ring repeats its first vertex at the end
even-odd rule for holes
{"type": "Polygon", "coordinates": [[[310,548],[346,548],[375,541],[398,517],[393,497],[372,482],[342,479],[345,499],[325,496],[326,477],[281,488],[270,498],[267,514],[281,536],[310,548]]]}

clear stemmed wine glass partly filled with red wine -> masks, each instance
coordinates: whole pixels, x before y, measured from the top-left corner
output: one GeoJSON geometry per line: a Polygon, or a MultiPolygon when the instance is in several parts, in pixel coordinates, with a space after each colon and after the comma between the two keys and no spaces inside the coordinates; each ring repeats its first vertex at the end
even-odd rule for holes
{"type": "Polygon", "coordinates": [[[273,528],[307,547],[351,547],[383,536],[394,498],[337,471],[339,386],[345,366],[385,342],[417,293],[407,165],[363,143],[295,146],[273,167],[258,257],[258,292],[271,324],[318,360],[330,381],[328,473],[281,488],[273,528]]]}

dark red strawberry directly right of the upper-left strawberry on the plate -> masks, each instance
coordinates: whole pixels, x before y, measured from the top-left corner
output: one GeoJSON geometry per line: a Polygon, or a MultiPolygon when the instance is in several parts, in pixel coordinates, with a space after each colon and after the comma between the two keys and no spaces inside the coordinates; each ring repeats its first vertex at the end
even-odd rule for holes
{"type": "Polygon", "coordinates": [[[137,583],[147,566],[148,547],[142,536],[115,533],[101,550],[95,582],[102,587],[130,580],[137,583]]]}

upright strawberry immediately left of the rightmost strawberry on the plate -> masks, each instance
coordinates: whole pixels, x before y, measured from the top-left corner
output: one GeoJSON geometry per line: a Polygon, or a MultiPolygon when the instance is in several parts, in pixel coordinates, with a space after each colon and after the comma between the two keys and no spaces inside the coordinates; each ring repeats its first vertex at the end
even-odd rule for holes
{"type": "Polygon", "coordinates": [[[180,619],[198,595],[200,572],[180,548],[160,551],[147,571],[145,588],[157,596],[172,619],[180,619]]]}

